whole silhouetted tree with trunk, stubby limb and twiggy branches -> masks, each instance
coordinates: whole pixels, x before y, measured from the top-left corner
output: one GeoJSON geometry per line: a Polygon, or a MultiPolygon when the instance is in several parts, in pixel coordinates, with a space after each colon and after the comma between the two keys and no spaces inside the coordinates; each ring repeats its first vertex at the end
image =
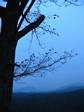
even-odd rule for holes
{"type": "MultiPolygon", "coordinates": [[[[65,53],[57,60],[49,58],[49,51],[46,53],[39,63],[36,63],[35,56],[21,62],[15,63],[15,50],[19,39],[23,38],[30,31],[34,31],[44,21],[45,15],[40,13],[39,7],[42,4],[47,3],[47,0],[3,0],[6,2],[6,6],[0,6],[0,18],[1,18],[1,32],[0,32],[0,112],[7,112],[11,102],[13,78],[32,75],[39,70],[45,70],[54,65],[57,62],[62,62],[67,57],[72,55],[65,53]],[[28,16],[31,13],[31,9],[36,4],[37,12],[34,21],[31,21],[31,17],[28,16]],[[27,25],[21,29],[23,21],[26,20],[27,25]],[[26,65],[25,65],[26,64],[26,65]],[[25,66],[23,66],[25,65],[25,66]],[[14,67],[15,71],[14,71],[14,67]],[[16,69],[24,69],[24,71],[18,72],[16,69]]],[[[49,0],[56,5],[59,5],[58,0],[49,0]]],[[[76,5],[77,0],[64,0],[66,5],[76,5]]],[[[34,16],[34,15],[33,15],[34,16]]],[[[51,29],[46,32],[53,32],[51,29]]],[[[55,32],[55,31],[54,31],[55,32]]],[[[38,39],[38,38],[37,38],[38,39]]],[[[38,39],[39,40],[39,39],[38,39]]],[[[55,52],[54,52],[55,53],[55,52]]]]}

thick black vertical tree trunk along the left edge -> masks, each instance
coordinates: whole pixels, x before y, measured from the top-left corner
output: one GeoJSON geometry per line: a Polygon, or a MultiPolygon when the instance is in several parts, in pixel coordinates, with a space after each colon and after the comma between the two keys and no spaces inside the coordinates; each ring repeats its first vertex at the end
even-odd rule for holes
{"type": "Polygon", "coordinates": [[[18,23],[17,0],[8,0],[1,16],[0,34],[0,112],[7,112],[11,102],[15,49],[17,44],[16,29],[18,23]]]}

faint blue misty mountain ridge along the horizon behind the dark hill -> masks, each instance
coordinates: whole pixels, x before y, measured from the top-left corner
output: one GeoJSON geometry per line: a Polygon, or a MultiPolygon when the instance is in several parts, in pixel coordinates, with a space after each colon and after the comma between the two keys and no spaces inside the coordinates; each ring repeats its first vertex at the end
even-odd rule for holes
{"type": "Polygon", "coordinates": [[[83,84],[71,84],[71,85],[66,85],[63,87],[60,87],[59,89],[38,89],[32,86],[25,86],[22,88],[18,88],[14,90],[14,93],[16,92],[21,92],[21,93],[49,93],[49,92],[70,92],[70,91],[75,91],[75,90],[80,90],[80,89],[84,89],[84,85],[83,84]]]}

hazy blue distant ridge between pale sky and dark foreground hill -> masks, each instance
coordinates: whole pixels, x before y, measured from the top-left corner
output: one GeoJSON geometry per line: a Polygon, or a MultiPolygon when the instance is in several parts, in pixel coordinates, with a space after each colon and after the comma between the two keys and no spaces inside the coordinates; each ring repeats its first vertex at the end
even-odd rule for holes
{"type": "Polygon", "coordinates": [[[20,92],[20,93],[38,93],[38,92],[51,92],[51,91],[56,91],[56,92],[70,92],[70,91],[74,91],[74,90],[79,90],[79,89],[84,89],[84,84],[81,83],[73,83],[73,84],[69,84],[69,85],[64,85],[62,87],[59,88],[36,88],[33,86],[28,86],[25,84],[25,86],[18,86],[17,88],[13,88],[13,93],[16,92],[20,92]]]}

